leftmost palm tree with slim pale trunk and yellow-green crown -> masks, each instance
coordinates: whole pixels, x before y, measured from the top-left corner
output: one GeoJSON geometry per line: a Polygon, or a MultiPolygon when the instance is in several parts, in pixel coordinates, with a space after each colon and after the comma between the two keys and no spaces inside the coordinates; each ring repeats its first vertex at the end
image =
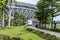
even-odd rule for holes
{"type": "Polygon", "coordinates": [[[4,28],[4,14],[6,13],[6,10],[8,9],[7,7],[6,7],[6,5],[7,5],[7,0],[1,0],[0,1],[1,3],[1,7],[0,7],[0,9],[1,9],[1,11],[2,11],[2,28],[4,28]]]}

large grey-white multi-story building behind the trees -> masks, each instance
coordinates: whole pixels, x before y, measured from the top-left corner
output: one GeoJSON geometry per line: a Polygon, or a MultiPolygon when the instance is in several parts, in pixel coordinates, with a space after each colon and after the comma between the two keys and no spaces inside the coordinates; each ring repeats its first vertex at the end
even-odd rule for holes
{"type": "MultiPolygon", "coordinates": [[[[9,5],[8,5],[9,6],[9,5]]],[[[14,16],[14,12],[18,12],[25,16],[25,18],[34,19],[34,12],[37,10],[37,7],[33,4],[17,2],[16,6],[14,3],[11,5],[11,16],[14,16]]]]}

